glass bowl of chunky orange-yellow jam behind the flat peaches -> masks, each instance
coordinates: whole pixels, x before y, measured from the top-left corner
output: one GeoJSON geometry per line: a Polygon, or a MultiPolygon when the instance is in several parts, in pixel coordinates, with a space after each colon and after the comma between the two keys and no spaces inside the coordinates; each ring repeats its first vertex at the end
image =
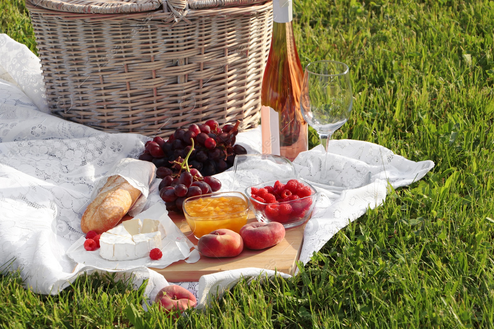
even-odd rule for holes
{"type": "Polygon", "coordinates": [[[184,215],[196,238],[220,228],[240,233],[247,224],[249,201],[241,192],[192,196],[184,201],[184,215]]]}

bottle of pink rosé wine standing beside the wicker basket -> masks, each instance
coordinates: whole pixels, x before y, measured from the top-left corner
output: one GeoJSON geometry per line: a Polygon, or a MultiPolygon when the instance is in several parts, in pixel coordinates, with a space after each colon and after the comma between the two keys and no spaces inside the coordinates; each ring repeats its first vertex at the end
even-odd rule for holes
{"type": "Polygon", "coordinates": [[[261,90],[262,152],[295,159],[306,151],[300,112],[303,73],[293,37],[291,0],[273,0],[273,35],[261,90]]]}

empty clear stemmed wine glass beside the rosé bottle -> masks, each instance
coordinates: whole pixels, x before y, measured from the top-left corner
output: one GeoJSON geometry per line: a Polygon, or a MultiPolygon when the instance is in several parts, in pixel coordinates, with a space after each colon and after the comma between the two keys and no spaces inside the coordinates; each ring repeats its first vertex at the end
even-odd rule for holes
{"type": "Polygon", "coordinates": [[[300,110],[307,123],[314,128],[326,149],[320,182],[331,184],[326,171],[328,142],[331,135],[348,119],[353,97],[350,70],[336,61],[317,61],[307,65],[302,82],[300,110]]]}

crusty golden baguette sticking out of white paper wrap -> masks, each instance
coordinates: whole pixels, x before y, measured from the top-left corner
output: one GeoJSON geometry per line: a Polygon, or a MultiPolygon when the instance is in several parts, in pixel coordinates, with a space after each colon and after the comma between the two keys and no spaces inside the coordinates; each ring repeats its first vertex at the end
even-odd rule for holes
{"type": "Polygon", "coordinates": [[[101,234],[112,229],[140,195],[141,191],[130,185],[122,176],[108,177],[105,185],[82,215],[82,232],[95,231],[101,234]]]}

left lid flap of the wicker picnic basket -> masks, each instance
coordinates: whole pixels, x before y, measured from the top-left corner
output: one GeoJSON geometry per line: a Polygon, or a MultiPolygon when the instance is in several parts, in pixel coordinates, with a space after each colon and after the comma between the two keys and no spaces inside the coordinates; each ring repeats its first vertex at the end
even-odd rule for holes
{"type": "Polygon", "coordinates": [[[29,0],[46,9],[98,14],[140,12],[157,9],[163,0],[29,0]]]}

